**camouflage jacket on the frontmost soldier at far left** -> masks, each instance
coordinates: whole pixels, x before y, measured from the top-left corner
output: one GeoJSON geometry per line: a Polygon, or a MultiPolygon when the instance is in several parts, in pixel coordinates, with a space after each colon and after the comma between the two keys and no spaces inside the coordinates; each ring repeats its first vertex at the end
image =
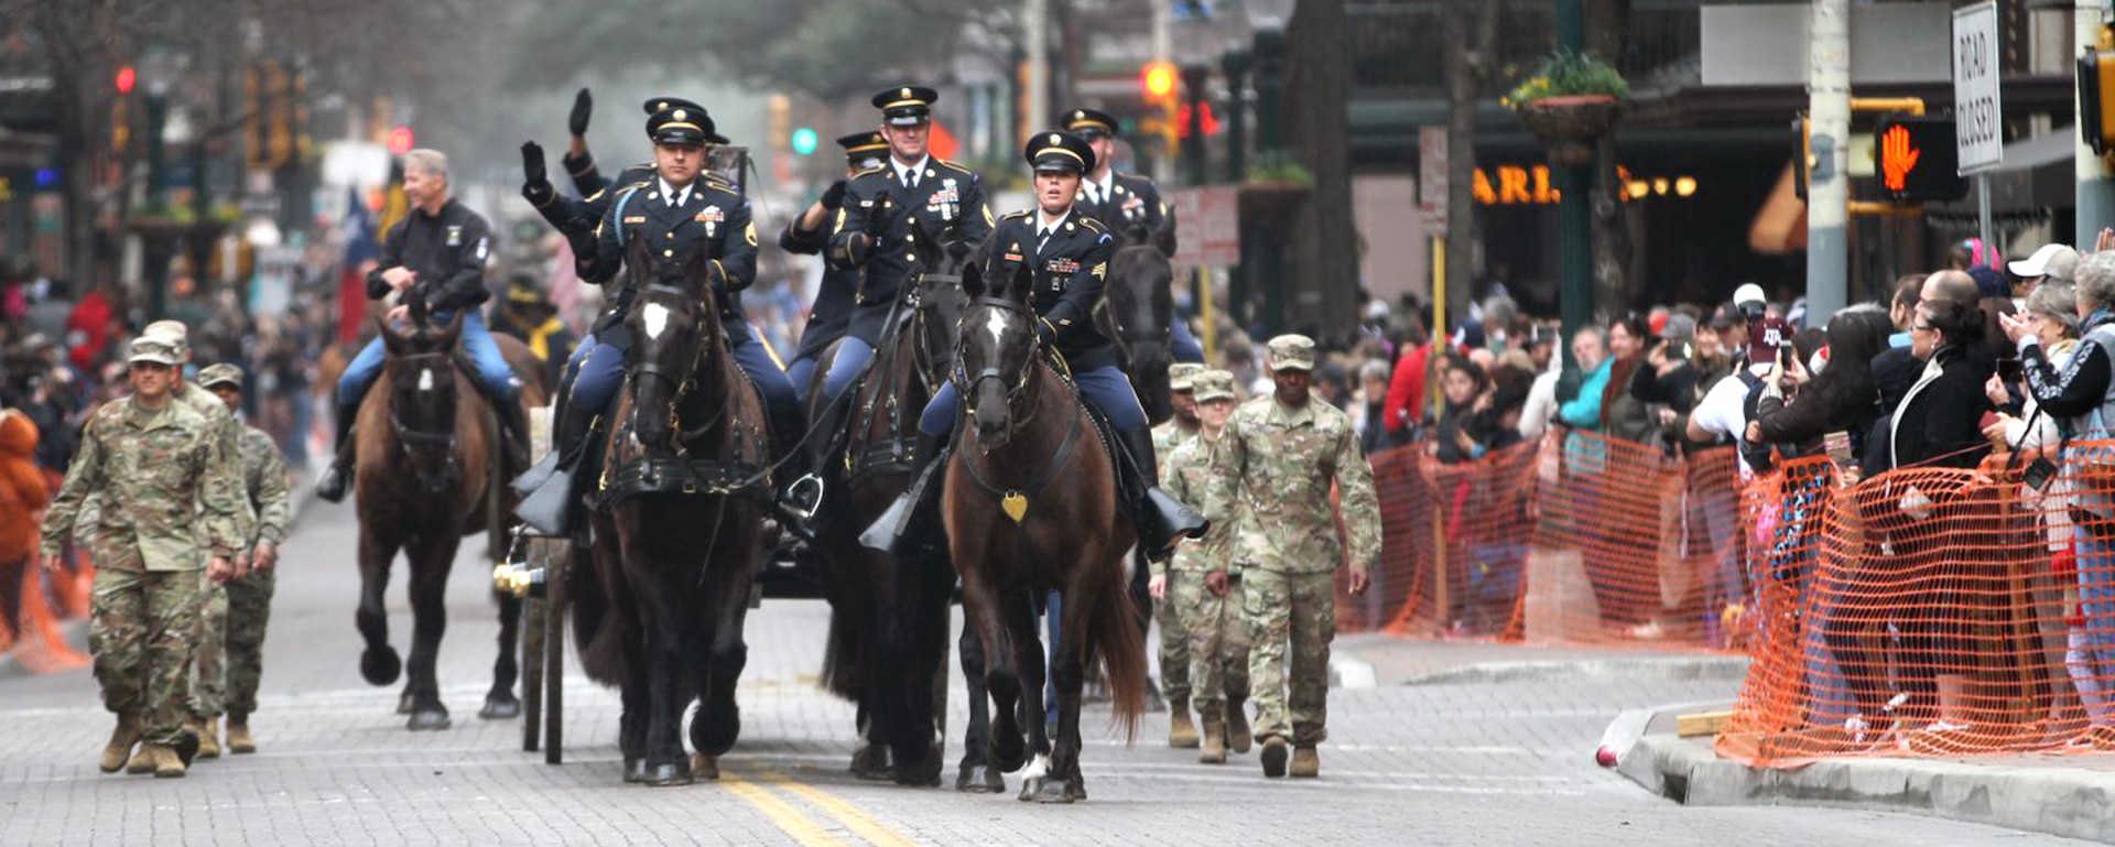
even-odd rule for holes
{"type": "MultiPolygon", "coordinates": [[[[222,408],[226,412],[226,408],[222,408]]],[[[114,570],[197,570],[203,537],[214,556],[233,556],[243,537],[237,479],[214,450],[214,425],[188,403],[150,412],[121,397],[82,427],[74,465],[44,513],[44,556],[55,556],[80,503],[102,494],[91,553],[114,570]]]]}

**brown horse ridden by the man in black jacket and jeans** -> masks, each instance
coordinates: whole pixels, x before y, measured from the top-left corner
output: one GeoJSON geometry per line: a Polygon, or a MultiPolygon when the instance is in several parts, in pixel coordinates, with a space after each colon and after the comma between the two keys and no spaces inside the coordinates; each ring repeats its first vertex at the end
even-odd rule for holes
{"type": "MultiPolygon", "coordinates": [[[[463,332],[459,313],[446,325],[427,323],[425,310],[412,306],[412,323],[398,332],[379,321],[385,359],[383,374],[360,403],[360,465],[353,471],[355,511],[360,513],[360,634],[366,651],[360,674],[372,684],[391,684],[404,672],[404,661],[389,646],[389,615],[383,594],[389,589],[389,564],[402,549],[410,562],[412,644],[410,678],[398,714],[410,714],[410,729],[446,729],[448,708],[440,703],[434,659],[440,636],[448,627],[448,572],[455,549],[465,534],[486,532],[493,507],[489,496],[512,501],[508,486],[491,463],[497,422],[476,391],[470,374],[455,361],[455,344],[463,332]]],[[[520,401],[544,403],[535,357],[512,338],[497,338],[514,374],[522,380],[520,401]]],[[[501,513],[512,503],[501,503],[501,513]]],[[[497,553],[497,551],[489,551],[497,553]]],[[[514,644],[520,625],[520,600],[499,594],[499,659],[493,663],[493,689],[484,695],[480,718],[512,718],[520,714],[514,697],[518,674],[514,644]]]]}

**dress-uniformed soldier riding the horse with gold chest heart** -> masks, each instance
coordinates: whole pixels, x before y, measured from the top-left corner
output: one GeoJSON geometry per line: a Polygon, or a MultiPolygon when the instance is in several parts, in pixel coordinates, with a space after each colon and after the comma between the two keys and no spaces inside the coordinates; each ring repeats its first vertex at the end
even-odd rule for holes
{"type": "MultiPolygon", "coordinates": [[[[1022,266],[1034,272],[1034,296],[1030,306],[1041,317],[1038,338],[1053,346],[1072,372],[1081,397],[1087,399],[1117,431],[1117,439],[1132,454],[1136,479],[1125,479],[1125,494],[1134,501],[1134,524],[1138,543],[1153,560],[1163,560],[1178,537],[1201,537],[1206,522],[1193,509],[1159,490],[1159,473],[1153,456],[1153,429],[1146,410],[1138,406],[1132,380],[1117,368],[1117,344],[1093,323],[1096,302],[1102,300],[1102,285],[1108,277],[1108,258],[1117,249],[1117,239],[1102,222],[1074,209],[1081,173],[1093,169],[1093,148],[1087,139],[1066,131],[1043,131],[1028,139],[1026,158],[1036,171],[1036,209],[1007,213],[992,230],[992,256],[986,264],[986,279],[1013,279],[1022,266]]],[[[918,418],[916,454],[931,465],[939,448],[948,441],[960,414],[962,399],[954,382],[941,384],[918,418]]],[[[1119,463],[1121,467],[1123,463],[1119,463]]],[[[924,469],[920,469],[924,477],[924,469]]],[[[937,522],[897,522],[903,509],[924,511],[937,498],[941,486],[914,486],[890,507],[863,539],[880,539],[897,526],[928,530],[937,522]],[[916,496],[916,503],[914,503],[916,496]]],[[[903,549],[912,539],[888,539],[890,551],[903,549]]]]}

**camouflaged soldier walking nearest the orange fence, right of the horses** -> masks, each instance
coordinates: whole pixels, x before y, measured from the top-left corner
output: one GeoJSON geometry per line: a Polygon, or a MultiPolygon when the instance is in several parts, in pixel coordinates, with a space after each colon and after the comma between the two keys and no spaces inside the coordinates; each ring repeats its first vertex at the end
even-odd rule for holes
{"type": "MultiPolygon", "coordinates": [[[[1351,594],[1364,594],[1381,553],[1381,509],[1373,467],[1358,450],[1351,418],[1309,397],[1316,344],[1307,336],[1269,342],[1271,397],[1233,412],[1218,439],[1206,513],[1239,509],[1233,566],[1242,570],[1248,619],[1248,682],[1256,699],[1263,775],[1322,771],[1316,744],[1328,737],[1328,642],[1337,636],[1335,570],[1351,568],[1351,594]],[[1337,543],[1337,486],[1349,556],[1337,543]],[[1216,511],[1214,511],[1216,509],[1216,511]],[[1290,661],[1288,661],[1290,653],[1290,661]]],[[[1214,594],[1229,572],[1214,570],[1214,594]]]]}

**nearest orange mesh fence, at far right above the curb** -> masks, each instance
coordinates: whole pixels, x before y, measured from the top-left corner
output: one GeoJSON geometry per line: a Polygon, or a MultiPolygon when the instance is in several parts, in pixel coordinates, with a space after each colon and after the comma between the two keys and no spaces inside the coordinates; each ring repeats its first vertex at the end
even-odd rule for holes
{"type": "Polygon", "coordinates": [[[2075,444],[2041,488],[2026,465],[1749,486],[1774,517],[1762,642],[1719,754],[2115,750],[2115,441],[2075,444]]]}

